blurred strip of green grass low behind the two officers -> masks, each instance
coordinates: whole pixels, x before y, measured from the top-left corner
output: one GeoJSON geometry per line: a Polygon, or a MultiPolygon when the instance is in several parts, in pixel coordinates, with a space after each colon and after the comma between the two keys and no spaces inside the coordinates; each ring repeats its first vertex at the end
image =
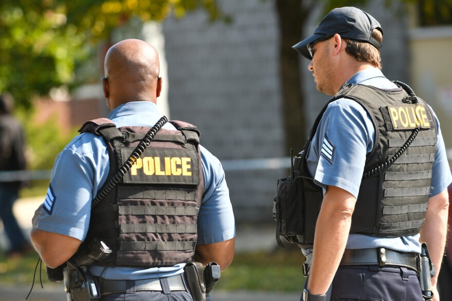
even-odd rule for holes
{"type": "MultiPolygon", "coordinates": [[[[6,258],[0,251],[0,282],[2,284],[30,284],[39,257],[30,253],[20,258],[6,258]]],[[[233,263],[221,272],[215,287],[218,290],[301,291],[305,281],[302,273],[303,255],[296,247],[274,251],[236,253],[233,263]]],[[[49,285],[45,266],[43,285],[49,285]]],[[[62,284],[61,284],[62,285],[62,284]]],[[[39,267],[35,286],[39,286],[39,267]]]]}

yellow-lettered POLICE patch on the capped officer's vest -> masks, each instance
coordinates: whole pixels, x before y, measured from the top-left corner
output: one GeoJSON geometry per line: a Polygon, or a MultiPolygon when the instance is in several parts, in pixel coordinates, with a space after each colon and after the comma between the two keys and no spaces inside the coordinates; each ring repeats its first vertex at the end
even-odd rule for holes
{"type": "Polygon", "coordinates": [[[424,106],[388,106],[388,110],[394,129],[430,128],[424,106]]]}

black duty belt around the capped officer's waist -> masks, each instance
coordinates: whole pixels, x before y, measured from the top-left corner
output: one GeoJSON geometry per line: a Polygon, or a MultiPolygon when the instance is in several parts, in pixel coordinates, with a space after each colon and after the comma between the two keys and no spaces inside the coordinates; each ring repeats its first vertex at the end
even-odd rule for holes
{"type": "Polygon", "coordinates": [[[418,271],[418,254],[386,248],[345,249],[340,266],[379,265],[399,266],[418,271]]]}

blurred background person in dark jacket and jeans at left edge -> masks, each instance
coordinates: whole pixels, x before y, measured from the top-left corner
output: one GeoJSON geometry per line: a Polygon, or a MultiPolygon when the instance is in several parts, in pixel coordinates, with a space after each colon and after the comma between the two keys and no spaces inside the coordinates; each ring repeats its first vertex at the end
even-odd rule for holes
{"type": "MultiPolygon", "coordinates": [[[[13,97],[8,93],[0,95],[0,173],[26,169],[24,131],[12,116],[13,109],[13,97]]],[[[12,211],[22,183],[17,174],[4,175],[0,179],[0,218],[10,243],[7,256],[32,250],[12,211]]]]}

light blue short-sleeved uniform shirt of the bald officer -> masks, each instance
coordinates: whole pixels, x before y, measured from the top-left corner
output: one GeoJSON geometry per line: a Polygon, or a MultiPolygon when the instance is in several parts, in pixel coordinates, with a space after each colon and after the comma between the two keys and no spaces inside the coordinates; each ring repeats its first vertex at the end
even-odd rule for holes
{"type": "MultiPolygon", "coordinates": [[[[108,118],[117,127],[152,127],[160,118],[151,102],[130,102],[112,110],[108,118]]],[[[170,123],[166,129],[175,129],[170,123]]],[[[198,244],[223,242],[235,236],[234,214],[229,190],[219,160],[200,146],[205,189],[198,215],[198,244]]],[[[84,240],[88,232],[91,200],[103,186],[109,172],[109,157],[102,137],[83,133],[72,139],[55,160],[50,186],[37,228],[84,240]]],[[[137,269],[91,267],[107,279],[142,279],[182,273],[184,264],[174,267],[137,269]]]]}

